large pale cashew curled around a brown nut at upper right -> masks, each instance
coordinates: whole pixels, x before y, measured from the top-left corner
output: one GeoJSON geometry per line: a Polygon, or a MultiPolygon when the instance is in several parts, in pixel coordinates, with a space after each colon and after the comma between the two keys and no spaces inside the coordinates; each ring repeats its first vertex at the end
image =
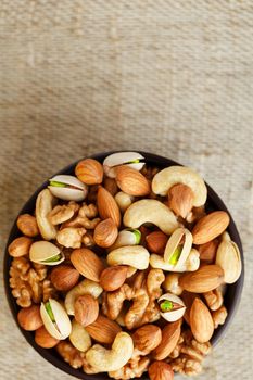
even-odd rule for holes
{"type": "Polygon", "coordinates": [[[152,180],[152,191],[155,194],[167,195],[168,190],[177,183],[189,186],[193,191],[193,206],[202,206],[207,198],[207,189],[197,172],[185,166],[169,166],[159,172],[152,180]]]}

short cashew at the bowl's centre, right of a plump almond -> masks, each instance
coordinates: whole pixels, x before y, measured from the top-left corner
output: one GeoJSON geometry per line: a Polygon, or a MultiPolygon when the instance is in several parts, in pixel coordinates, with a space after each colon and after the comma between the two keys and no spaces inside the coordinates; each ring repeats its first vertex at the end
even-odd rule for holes
{"type": "Polygon", "coordinates": [[[126,245],[113,250],[107,255],[109,265],[129,265],[136,269],[147,269],[149,252],[141,245],[126,245]]]}

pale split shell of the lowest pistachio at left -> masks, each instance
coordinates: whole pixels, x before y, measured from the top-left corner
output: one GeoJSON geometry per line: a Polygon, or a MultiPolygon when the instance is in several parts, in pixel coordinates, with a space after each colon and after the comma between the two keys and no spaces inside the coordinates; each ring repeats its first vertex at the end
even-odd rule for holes
{"type": "Polygon", "coordinates": [[[55,339],[64,340],[72,332],[72,324],[64,307],[55,300],[49,299],[49,304],[53,314],[54,321],[50,318],[43,303],[40,305],[40,316],[43,325],[50,335],[55,339]]]}

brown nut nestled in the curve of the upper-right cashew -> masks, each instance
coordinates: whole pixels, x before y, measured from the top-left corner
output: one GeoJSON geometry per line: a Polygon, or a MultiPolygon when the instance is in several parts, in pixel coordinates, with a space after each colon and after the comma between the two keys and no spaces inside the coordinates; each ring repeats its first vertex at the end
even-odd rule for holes
{"type": "Polygon", "coordinates": [[[177,215],[186,218],[193,206],[194,194],[191,188],[184,183],[173,186],[168,192],[168,206],[177,215]]]}

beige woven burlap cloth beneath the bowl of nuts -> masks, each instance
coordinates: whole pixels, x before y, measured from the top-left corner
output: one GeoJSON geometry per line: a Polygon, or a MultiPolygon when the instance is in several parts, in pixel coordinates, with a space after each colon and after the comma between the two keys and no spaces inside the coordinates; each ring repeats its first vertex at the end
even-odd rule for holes
{"type": "MultiPolygon", "coordinates": [[[[1,0],[1,248],[38,185],[79,157],[141,149],[197,168],[246,263],[237,317],[200,379],[252,379],[252,103],[251,0],[1,0]]],[[[0,296],[0,378],[71,379],[25,342],[2,284],[0,296]]]]}

